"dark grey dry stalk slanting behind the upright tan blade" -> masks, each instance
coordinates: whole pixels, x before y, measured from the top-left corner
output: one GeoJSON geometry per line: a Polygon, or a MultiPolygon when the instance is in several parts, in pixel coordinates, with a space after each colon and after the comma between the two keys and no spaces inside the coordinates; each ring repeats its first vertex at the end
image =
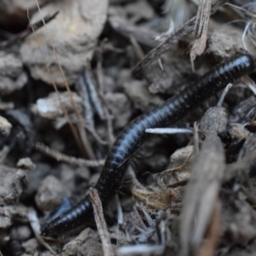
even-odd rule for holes
{"type": "MultiPolygon", "coordinates": [[[[212,1],[212,11],[211,14],[217,11],[218,7],[224,2],[224,0],[214,0],[212,1]]],[[[133,70],[133,74],[136,76],[141,72],[145,67],[148,67],[153,61],[157,60],[160,55],[165,53],[167,50],[171,49],[177,42],[188,35],[193,31],[195,26],[195,17],[188,20],[183,27],[174,32],[170,38],[166,38],[164,42],[162,42],[159,46],[152,49],[148,55],[145,56],[143,61],[140,61],[137,66],[133,70]]]]}

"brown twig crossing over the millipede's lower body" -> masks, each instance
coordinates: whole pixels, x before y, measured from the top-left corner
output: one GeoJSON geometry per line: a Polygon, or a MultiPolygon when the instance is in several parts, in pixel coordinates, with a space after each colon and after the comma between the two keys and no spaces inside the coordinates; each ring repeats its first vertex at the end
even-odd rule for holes
{"type": "Polygon", "coordinates": [[[113,256],[114,255],[113,247],[109,239],[107,224],[105,222],[104,215],[103,215],[102,202],[100,200],[100,197],[96,189],[91,188],[89,193],[92,201],[92,207],[94,212],[94,218],[96,221],[96,226],[102,241],[102,249],[103,249],[104,256],[113,256]]]}

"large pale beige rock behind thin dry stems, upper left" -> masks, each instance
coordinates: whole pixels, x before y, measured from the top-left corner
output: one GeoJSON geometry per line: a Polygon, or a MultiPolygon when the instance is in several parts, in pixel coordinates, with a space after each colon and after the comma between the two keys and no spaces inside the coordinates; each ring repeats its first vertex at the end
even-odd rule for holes
{"type": "MultiPolygon", "coordinates": [[[[42,9],[43,15],[53,14],[56,11],[60,13],[47,24],[52,39],[49,39],[45,29],[38,30],[37,38],[55,83],[63,87],[65,80],[53,54],[51,41],[67,83],[73,84],[86,67],[86,60],[91,59],[94,53],[97,38],[107,19],[108,0],[50,1],[42,9]]],[[[36,20],[41,20],[38,13],[32,16],[32,22],[36,20]]],[[[26,38],[20,48],[20,54],[34,79],[52,84],[38,42],[34,35],[26,38]]]]}

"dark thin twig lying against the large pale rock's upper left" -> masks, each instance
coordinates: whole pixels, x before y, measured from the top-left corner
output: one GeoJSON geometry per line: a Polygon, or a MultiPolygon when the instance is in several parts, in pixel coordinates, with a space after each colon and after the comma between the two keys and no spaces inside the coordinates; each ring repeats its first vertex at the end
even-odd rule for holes
{"type": "MultiPolygon", "coordinates": [[[[49,23],[50,20],[55,19],[55,16],[58,15],[59,12],[55,12],[53,15],[46,15],[44,17],[45,24],[49,23]]],[[[28,37],[32,32],[37,31],[40,27],[44,26],[43,20],[38,20],[34,24],[29,23],[29,26],[26,28],[26,30],[16,34],[13,38],[10,38],[9,40],[3,41],[0,44],[0,49],[7,48],[11,46],[12,44],[17,43],[17,40],[24,40],[26,37],[28,37]]]]}

